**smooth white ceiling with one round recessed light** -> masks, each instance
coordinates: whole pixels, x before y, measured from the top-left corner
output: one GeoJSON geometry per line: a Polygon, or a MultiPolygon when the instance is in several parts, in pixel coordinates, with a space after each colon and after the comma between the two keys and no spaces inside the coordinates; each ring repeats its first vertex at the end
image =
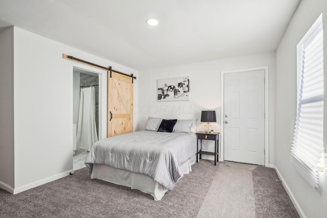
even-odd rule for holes
{"type": "Polygon", "coordinates": [[[275,51],[299,2],[0,0],[0,30],[14,25],[142,70],[275,51]]]}

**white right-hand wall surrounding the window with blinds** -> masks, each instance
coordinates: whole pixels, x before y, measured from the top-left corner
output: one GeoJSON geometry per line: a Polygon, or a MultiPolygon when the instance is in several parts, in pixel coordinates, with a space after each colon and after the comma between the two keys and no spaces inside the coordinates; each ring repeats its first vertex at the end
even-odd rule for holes
{"type": "MultiPolygon", "coordinates": [[[[324,75],[327,72],[327,1],[302,0],[276,50],[275,167],[303,217],[326,217],[327,174],[320,176],[319,189],[312,188],[290,164],[290,147],[296,115],[296,45],[323,14],[324,75]]],[[[325,77],[327,78],[327,77],[325,77]]],[[[327,80],[324,80],[327,87],[327,80]]],[[[325,88],[325,107],[327,88],[325,88]]],[[[327,110],[324,110],[324,136],[327,135],[327,110]]],[[[324,138],[325,152],[326,139],[324,138]]],[[[327,158],[325,159],[325,169],[327,158]]],[[[326,171],[326,170],[325,170],[326,171]]]]}

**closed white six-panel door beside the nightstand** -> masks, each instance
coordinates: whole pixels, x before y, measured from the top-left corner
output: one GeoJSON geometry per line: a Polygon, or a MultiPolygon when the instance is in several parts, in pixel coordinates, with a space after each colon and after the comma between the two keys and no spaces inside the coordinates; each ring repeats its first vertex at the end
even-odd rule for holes
{"type": "Polygon", "coordinates": [[[265,163],[265,70],[224,75],[224,160],[265,163]]]}

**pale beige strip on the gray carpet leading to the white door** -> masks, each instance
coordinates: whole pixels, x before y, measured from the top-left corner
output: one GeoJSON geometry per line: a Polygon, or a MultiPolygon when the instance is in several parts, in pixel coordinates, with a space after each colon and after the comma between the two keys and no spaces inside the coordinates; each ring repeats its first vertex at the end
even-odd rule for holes
{"type": "Polygon", "coordinates": [[[197,217],[255,218],[252,173],[244,165],[219,163],[197,217]]]}

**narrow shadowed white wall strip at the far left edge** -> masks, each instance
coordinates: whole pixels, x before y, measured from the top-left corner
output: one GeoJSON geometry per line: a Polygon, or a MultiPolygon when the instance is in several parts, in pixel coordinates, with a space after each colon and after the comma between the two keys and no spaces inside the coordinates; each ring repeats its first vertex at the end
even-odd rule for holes
{"type": "Polygon", "coordinates": [[[14,29],[0,32],[0,187],[14,187],[14,29]]]}

